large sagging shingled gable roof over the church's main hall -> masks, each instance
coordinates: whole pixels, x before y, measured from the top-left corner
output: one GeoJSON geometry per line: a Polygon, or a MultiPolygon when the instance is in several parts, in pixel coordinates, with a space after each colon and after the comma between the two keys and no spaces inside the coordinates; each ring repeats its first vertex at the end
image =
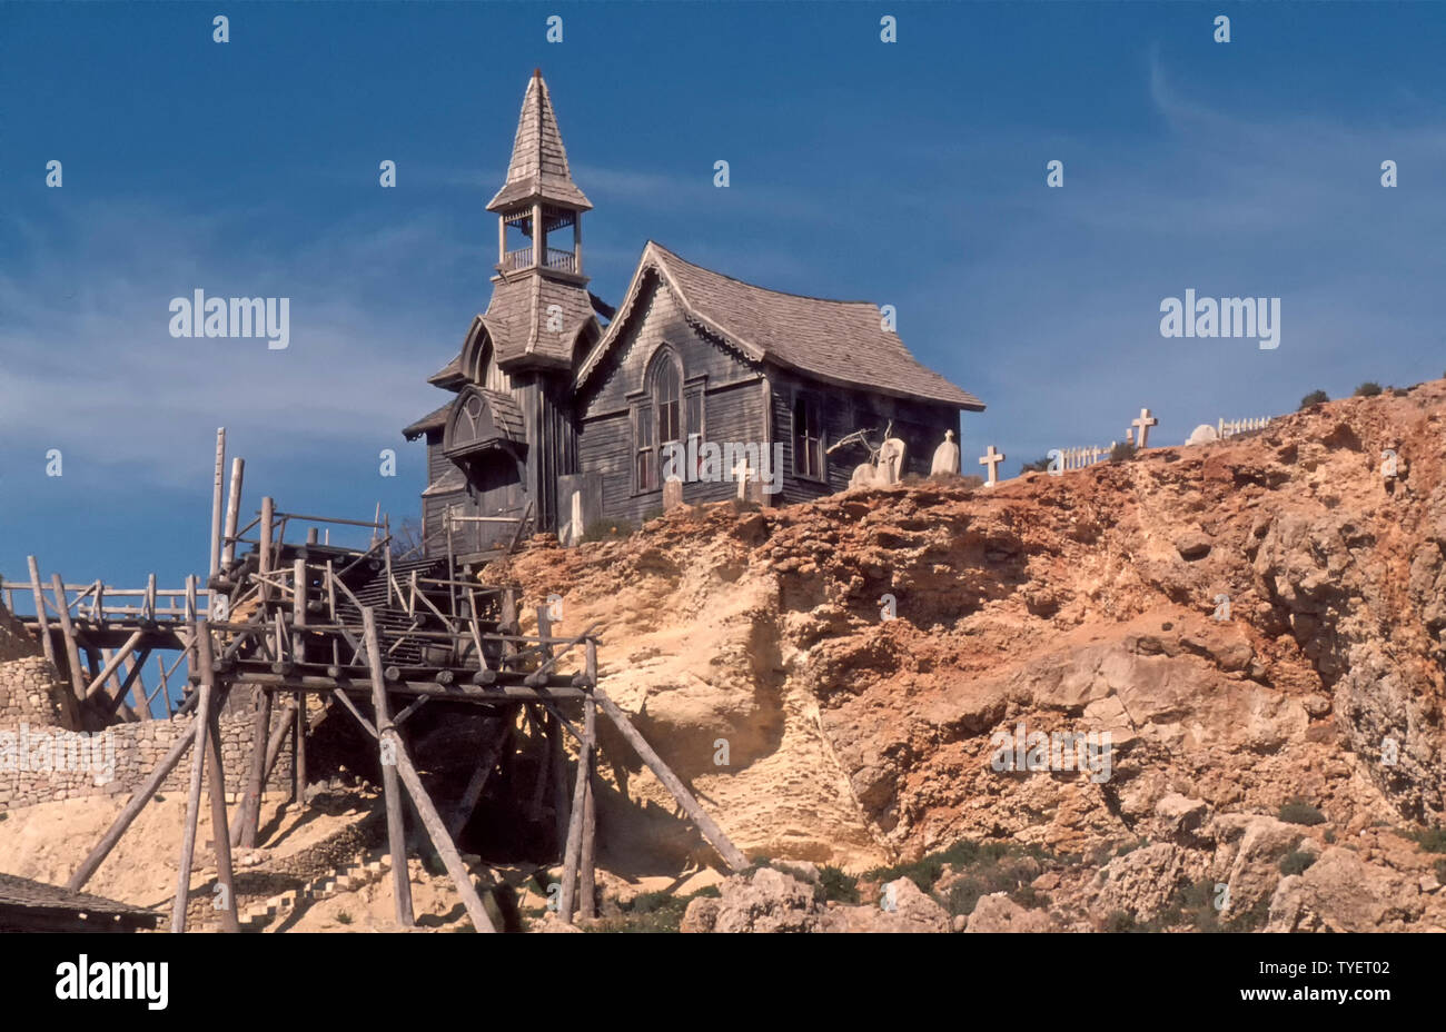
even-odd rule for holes
{"type": "Polygon", "coordinates": [[[884,328],[878,305],[779,293],[684,262],[649,240],[628,285],[619,315],[578,370],[581,387],[622,337],[648,273],[661,276],[688,319],[753,358],[818,380],[920,397],[982,412],[985,403],[925,369],[884,328]]]}

